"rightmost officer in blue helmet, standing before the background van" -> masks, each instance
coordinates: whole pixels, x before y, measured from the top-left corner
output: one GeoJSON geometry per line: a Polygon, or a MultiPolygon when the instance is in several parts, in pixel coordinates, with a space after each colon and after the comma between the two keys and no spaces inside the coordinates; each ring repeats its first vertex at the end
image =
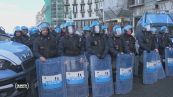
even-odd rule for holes
{"type": "Polygon", "coordinates": [[[164,58],[165,48],[173,47],[173,44],[169,35],[169,29],[166,26],[162,26],[160,28],[157,40],[158,40],[157,42],[158,42],[159,54],[161,55],[162,58],[164,58]]]}

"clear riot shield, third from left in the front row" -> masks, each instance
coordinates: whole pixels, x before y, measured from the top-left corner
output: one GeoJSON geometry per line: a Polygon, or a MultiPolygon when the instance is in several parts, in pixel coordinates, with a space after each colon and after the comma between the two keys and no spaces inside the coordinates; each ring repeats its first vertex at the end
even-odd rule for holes
{"type": "Polygon", "coordinates": [[[99,59],[97,56],[90,56],[92,94],[93,97],[110,97],[114,93],[112,79],[111,57],[105,56],[99,59]]]}

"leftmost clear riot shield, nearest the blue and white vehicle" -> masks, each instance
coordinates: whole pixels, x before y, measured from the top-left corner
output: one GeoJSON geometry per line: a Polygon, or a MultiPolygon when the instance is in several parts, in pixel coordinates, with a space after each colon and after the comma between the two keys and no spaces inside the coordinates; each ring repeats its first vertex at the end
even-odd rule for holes
{"type": "Polygon", "coordinates": [[[39,97],[66,97],[64,66],[61,58],[36,60],[39,97]]]}

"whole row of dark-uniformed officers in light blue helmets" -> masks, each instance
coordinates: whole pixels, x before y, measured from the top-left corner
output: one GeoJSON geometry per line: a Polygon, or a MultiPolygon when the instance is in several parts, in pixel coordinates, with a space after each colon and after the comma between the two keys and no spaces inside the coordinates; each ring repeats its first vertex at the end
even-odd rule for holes
{"type": "Polygon", "coordinates": [[[146,25],[136,37],[132,34],[133,27],[129,24],[123,27],[114,25],[110,31],[99,21],[93,21],[91,25],[83,27],[83,33],[76,30],[73,21],[62,23],[55,29],[43,22],[38,28],[28,30],[25,26],[17,26],[12,40],[29,46],[35,57],[42,62],[47,58],[82,54],[88,59],[90,55],[103,59],[107,54],[116,59],[118,53],[142,55],[144,50],[155,50],[164,57],[165,47],[173,47],[166,26],[157,29],[146,25]]]}

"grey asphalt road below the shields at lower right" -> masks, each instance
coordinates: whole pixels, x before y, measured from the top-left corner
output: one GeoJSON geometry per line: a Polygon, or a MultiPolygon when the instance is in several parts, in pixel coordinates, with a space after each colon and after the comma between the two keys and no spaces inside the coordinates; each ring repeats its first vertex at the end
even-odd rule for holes
{"type": "Polygon", "coordinates": [[[159,80],[153,85],[144,85],[139,78],[135,78],[130,93],[112,97],[173,97],[173,77],[159,80]]]}

